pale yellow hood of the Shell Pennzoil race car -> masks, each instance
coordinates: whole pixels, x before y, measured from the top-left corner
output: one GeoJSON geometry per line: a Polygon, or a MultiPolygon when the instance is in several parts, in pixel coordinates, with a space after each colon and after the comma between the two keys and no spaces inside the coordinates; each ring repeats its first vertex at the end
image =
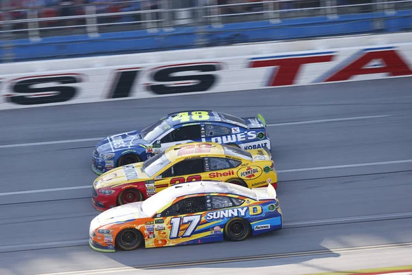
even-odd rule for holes
{"type": "Polygon", "coordinates": [[[141,170],[141,166],[143,166],[143,162],[128,164],[109,170],[95,179],[93,186],[98,189],[125,184],[128,181],[145,181],[149,178],[148,175],[141,170]]]}

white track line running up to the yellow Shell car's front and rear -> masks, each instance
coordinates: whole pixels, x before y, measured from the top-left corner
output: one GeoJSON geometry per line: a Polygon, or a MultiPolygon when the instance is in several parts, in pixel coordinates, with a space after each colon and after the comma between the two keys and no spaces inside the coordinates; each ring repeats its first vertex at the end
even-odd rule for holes
{"type": "MultiPolygon", "coordinates": [[[[310,170],[328,170],[328,169],[340,169],[340,168],[356,168],[363,166],[376,166],[376,165],[389,165],[389,164],[404,164],[412,162],[412,159],[404,160],[393,160],[390,162],[369,162],[363,164],[347,164],[347,165],[335,165],[335,166],[320,166],[320,167],[311,167],[311,168],[298,168],[298,169],[289,169],[289,170],[277,170],[277,173],[292,173],[292,172],[301,172],[301,171],[310,171],[310,170]]],[[[0,196],[10,196],[10,195],[23,195],[23,194],[32,194],[40,192],[56,192],[56,191],[65,191],[65,190],[76,190],[76,189],[89,189],[91,184],[87,186],[73,186],[73,187],[63,187],[63,188],[49,188],[49,189],[38,189],[38,190],[27,190],[27,191],[16,191],[16,192],[4,192],[0,193],[0,196]]]]}

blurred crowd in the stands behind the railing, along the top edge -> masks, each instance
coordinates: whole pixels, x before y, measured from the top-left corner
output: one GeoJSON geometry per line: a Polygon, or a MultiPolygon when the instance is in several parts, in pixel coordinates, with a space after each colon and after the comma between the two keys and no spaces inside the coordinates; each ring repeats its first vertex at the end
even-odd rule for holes
{"type": "MultiPolygon", "coordinates": [[[[139,10],[155,10],[162,0],[0,0],[1,10],[13,10],[10,15],[12,20],[27,19],[27,10],[36,10],[39,18],[67,17],[84,15],[85,6],[94,5],[95,12],[117,13],[133,12],[139,10]]],[[[168,0],[169,8],[193,8],[196,6],[214,5],[217,3],[220,14],[238,14],[244,12],[259,12],[264,10],[264,0],[168,0]],[[242,4],[242,5],[233,5],[242,4]]],[[[337,0],[338,5],[356,3],[371,3],[372,0],[337,0]]],[[[318,8],[321,0],[290,0],[279,1],[273,5],[274,9],[304,9],[318,8]]],[[[1,15],[0,15],[1,16],[1,15]]],[[[1,19],[1,18],[0,18],[1,19]]],[[[115,21],[130,21],[130,15],[113,17],[115,21]]],[[[51,22],[52,23],[52,22],[51,22]]]]}

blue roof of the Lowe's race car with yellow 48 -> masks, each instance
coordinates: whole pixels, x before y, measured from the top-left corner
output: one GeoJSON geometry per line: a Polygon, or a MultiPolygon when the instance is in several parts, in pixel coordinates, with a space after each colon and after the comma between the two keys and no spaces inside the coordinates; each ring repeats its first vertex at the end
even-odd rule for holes
{"type": "Polygon", "coordinates": [[[173,120],[173,118],[176,117],[176,115],[179,115],[179,113],[189,113],[190,114],[194,111],[207,112],[207,114],[209,115],[209,119],[207,119],[207,120],[194,120],[192,118],[192,115],[189,115],[189,120],[186,120],[184,122],[184,124],[194,123],[194,122],[225,122],[225,123],[229,123],[229,124],[233,124],[233,125],[237,125],[237,126],[247,128],[247,123],[242,118],[238,118],[235,115],[229,115],[227,113],[220,113],[220,112],[210,111],[210,110],[178,111],[178,112],[175,112],[175,113],[169,113],[168,115],[165,116],[165,120],[168,122],[168,124],[170,124],[170,126],[175,126],[177,124],[182,124],[182,122],[180,120],[173,120]]]}

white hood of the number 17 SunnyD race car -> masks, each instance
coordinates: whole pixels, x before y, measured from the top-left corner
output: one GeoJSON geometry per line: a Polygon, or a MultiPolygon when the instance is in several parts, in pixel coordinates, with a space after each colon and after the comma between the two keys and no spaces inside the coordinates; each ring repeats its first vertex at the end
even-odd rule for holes
{"type": "Polygon", "coordinates": [[[148,215],[141,210],[141,203],[143,201],[124,204],[98,214],[91,222],[91,229],[95,230],[109,223],[124,223],[135,219],[147,218],[148,215]]]}

